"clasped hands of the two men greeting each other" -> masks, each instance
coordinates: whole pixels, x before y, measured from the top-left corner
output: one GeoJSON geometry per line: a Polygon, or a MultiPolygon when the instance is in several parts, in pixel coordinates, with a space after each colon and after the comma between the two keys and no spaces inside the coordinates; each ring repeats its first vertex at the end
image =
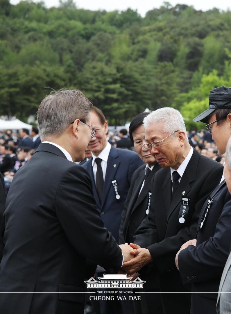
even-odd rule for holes
{"type": "Polygon", "coordinates": [[[138,246],[135,243],[127,243],[119,245],[123,256],[124,263],[122,265],[122,270],[128,275],[134,275],[140,270],[144,265],[152,261],[152,257],[148,249],[138,246]]]}

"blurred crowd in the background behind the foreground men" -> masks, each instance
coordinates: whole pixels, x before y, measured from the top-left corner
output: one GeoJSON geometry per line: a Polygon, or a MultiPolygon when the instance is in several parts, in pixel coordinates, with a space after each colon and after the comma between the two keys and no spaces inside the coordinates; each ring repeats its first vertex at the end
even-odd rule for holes
{"type": "MultiPolygon", "coordinates": [[[[223,164],[224,157],[218,156],[218,149],[212,140],[211,133],[204,129],[199,131],[191,129],[190,132],[188,131],[188,138],[190,145],[200,154],[223,164]]],[[[128,130],[124,127],[119,131],[115,129],[109,131],[107,140],[114,147],[135,151],[128,130]]],[[[30,160],[40,143],[39,130],[35,126],[31,130],[21,129],[19,132],[0,131],[0,172],[4,176],[7,190],[14,174],[30,160]]],[[[91,158],[91,152],[87,149],[85,159],[78,163],[83,164],[89,158],[91,158]]]]}

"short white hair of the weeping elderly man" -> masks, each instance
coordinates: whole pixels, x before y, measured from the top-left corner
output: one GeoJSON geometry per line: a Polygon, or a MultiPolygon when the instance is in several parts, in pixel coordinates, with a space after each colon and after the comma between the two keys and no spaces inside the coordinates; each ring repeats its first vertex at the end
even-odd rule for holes
{"type": "Polygon", "coordinates": [[[144,127],[147,127],[148,124],[158,123],[159,121],[165,122],[163,132],[171,134],[176,130],[182,130],[185,132],[185,136],[188,139],[183,116],[178,110],[172,107],[159,108],[146,116],[143,119],[143,124],[144,127]]]}

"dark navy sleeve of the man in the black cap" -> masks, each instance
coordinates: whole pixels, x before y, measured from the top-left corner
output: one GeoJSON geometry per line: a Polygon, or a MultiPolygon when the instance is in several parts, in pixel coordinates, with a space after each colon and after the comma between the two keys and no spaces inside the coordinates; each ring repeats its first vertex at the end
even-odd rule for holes
{"type": "Polygon", "coordinates": [[[194,282],[221,278],[229,254],[231,239],[231,195],[226,195],[222,214],[213,237],[198,246],[188,246],[180,251],[178,265],[184,284],[190,277],[194,282]],[[186,263],[184,263],[186,261],[186,263]]]}

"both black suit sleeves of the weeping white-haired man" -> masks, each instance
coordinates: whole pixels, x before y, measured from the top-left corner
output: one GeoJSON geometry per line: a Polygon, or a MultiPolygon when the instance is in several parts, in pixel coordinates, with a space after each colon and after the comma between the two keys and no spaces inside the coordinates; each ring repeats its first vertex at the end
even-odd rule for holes
{"type": "Polygon", "coordinates": [[[176,235],[166,237],[163,241],[159,242],[155,215],[153,209],[151,208],[148,216],[143,220],[137,230],[134,242],[140,246],[146,247],[149,250],[153,258],[154,265],[161,273],[175,268],[175,256],[181,245],[191,239],[195,239],[201,208],[208,198],[211,190],[215,188],[211,186],[211,182],[214,182],[214,179],[218,178],[218,176],[221,176],[220,168],[216,168],[211,171],[210,175],[201,186],[201,190],[196,199],[191,217],[190,226],[182,228],[176,235]]]}

